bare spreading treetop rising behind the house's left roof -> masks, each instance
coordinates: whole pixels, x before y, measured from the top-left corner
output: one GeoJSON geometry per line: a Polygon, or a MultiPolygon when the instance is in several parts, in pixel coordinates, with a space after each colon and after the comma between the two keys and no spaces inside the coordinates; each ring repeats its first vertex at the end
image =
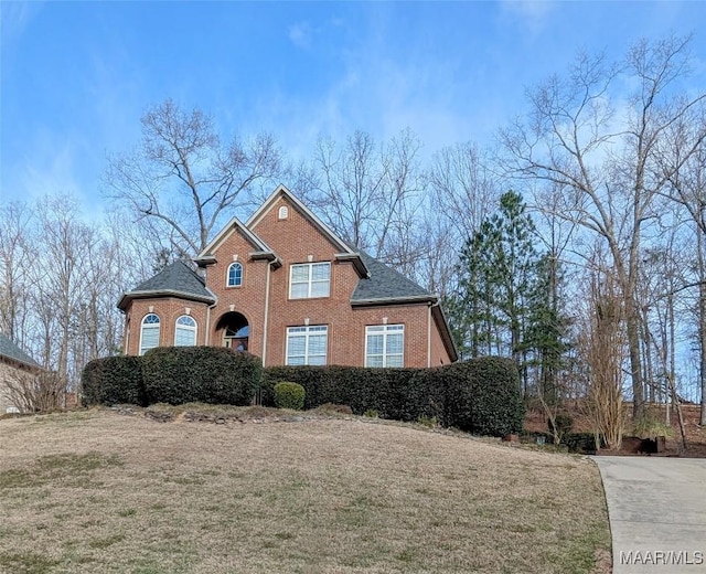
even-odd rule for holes
{"type": "Polygon", "coordinates": [[[180,256],[201,252],[227,212],[280,169],[272,136],[223,144],[213,119],[197,108],[186,113],[167,99],[141,123],[137,150],[108,159],[107,194],[169,237],[180,256]]]}

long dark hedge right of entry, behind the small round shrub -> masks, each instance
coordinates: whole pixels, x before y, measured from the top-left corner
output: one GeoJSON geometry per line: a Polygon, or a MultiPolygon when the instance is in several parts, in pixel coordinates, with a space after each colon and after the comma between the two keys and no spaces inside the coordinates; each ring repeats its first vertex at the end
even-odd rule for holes
{"type": "Polygon", "coordinates": [[[436,417],[442,426],[491,436],[520,433],[524,422],[520,375],[510,359],[483,357],[434,369],[271,366],[263,373],[263,404],[275,405],[279,381],[304,387],[306,408],[334,403],[357,415],[436,417]]]}

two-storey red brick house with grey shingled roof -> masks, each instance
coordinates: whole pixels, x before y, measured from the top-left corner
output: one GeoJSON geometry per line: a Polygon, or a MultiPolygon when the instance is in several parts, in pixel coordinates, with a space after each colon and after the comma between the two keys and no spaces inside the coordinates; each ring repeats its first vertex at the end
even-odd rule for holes
{"type": "Polygon", "coordinates": [[[439,300],[351,248],[280,185],[243,224],[126,293],[124,349],[223,346],[263,364],[431,366],[457,360],[439,300]]]}

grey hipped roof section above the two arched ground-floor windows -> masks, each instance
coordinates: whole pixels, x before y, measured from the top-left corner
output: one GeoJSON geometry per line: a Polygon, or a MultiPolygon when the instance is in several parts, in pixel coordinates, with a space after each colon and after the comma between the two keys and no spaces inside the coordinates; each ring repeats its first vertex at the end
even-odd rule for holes
{"type": "Polygon", "coordinates": [[[216,297],[208,290],[203,277],[186,263],[175,261],[154,275],[154,277],[122,295],[118,302],[118,308],[125,309],[132,299],[164,296],[208,304],[216,302],[216,297]]]}

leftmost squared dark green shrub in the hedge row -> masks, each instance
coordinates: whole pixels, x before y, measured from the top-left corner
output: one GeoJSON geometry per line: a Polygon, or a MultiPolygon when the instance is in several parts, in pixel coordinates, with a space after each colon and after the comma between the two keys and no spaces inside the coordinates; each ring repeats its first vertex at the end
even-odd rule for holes
{"type": "Polygon", "coordinates": [[[141,357],[94,359],[81,373],[86,405],[133,404],[147,406],[141,357]]]}

